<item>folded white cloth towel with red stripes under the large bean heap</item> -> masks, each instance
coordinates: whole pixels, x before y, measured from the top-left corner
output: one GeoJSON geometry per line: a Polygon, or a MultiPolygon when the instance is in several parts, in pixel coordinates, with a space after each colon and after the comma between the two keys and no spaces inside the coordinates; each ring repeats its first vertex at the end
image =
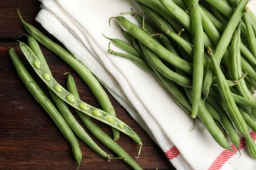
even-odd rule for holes
{"type": "MultiPolygon", "coordinates": [[[[177,169],[256,169],[245,144],[242,156],[221,148],[200,121],[193,123],[154,76],[128,59],[108,54],[108,37],[123,39],[112,16],[137,8],[128,0],[40,0],[37,22],[84,63],[137,120],[177,169]]],[[[256,8],[255,1],[251,7],[256,8]]],[[[256,10],[254,10],[256,11],[256,10]]],[[[130,20],[133,18],[129,16],[130,20]]],[[[115,49],[114,45],[112,46],[115,49]]],[[[255,133],[251,133],[256,138],[255,133]]],[[[243,141],[243,139],[241,139],[243,141]]],[[[142,150],[143,152],[143,150],[142,150]]],[[[157,168],[157,167],[156,167],[157,168]]]]}

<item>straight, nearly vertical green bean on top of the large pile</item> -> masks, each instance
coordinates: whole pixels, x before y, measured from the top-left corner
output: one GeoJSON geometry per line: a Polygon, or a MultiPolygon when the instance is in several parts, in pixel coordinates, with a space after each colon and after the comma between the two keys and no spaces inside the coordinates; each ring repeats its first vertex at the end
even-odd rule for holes
{"type": "Polygon", "coordinates": [[[193,48],[193,88],[192,88],[192,113],[191,117],[196,118],[198,114],[199,101],[202,95],[202,84],[203,84],[203,65],[202,61],[204,58],[204,44],[203,44],[203,24],[198,6],[198,1],[185,1],[188,3],[190,8],[190,16],[192,23],[192,30],[194,35],[194,48],[193,48]]]}

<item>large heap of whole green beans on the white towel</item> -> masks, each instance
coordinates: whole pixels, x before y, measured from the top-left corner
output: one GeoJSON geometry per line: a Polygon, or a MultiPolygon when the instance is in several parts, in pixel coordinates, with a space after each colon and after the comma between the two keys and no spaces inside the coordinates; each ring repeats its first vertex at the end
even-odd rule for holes
{"type": "Polygon", "coordinates": [[[223,148],[232,150],[234,144],[239,150],[244,137],[248,154],[256,159],[249,135],[256,127],[256,17],[247,7],[249,0],[135,3],[143,14],[132,9],[110,18],[124,39],[104,35],[123,50],[109,46],[108,52],[154,75],[184,113],[199,118],[223,148]]]}

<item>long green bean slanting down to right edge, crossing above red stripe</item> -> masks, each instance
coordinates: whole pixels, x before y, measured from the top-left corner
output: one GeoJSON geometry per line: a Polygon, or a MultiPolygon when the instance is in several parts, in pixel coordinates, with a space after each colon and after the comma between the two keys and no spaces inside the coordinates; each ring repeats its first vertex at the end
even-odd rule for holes
{"type": "Polygon", "coordinates": [[[223,72],[221,71],[219,67],[219,63],[217,62],[217,59],[215,59],[215,56],[212,52],[212,50],[209,48],[208,50],[209,56],[211,57],[211,63],[213,63],[213,71],[215,73],[215,78],[217,80],[217,84],[219,87],[219,92],[221,93],[221,98],[223,99],[223,105],[226,107],[226,110],[228,112],[228,115],[234,122],[236,128],[242,133],[242,135],[245,137],[245,141],[248,146],[249,154],[252,158],[256,159],[256,144],[251,139],[247,124],[242,117],[240,110],[238,109],[234,98],[232,97],[232,94],[230,92],[230,88],[226,84],[226,78],[223,75],[223,72]]]}

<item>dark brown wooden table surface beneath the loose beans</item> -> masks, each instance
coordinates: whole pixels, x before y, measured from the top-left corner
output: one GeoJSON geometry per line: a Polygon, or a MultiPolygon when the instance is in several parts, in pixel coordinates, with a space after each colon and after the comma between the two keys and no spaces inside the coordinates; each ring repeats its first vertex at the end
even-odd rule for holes
{"type": "MultiPolygon", "coordinates": [[[[0,5],[0,169],[76,169],[77,167],[68,142],[22,84],[8,54],[9,47],[14,47],[24,64],[35,76],[22,56],[18,42],[13,37],[25,33],[16,9],[20,10],[27,22],[47,34],[43,27],[34,20],[37,12],[39,12],[39,5],[39,1],[35,0],[7,0],[0,5]]],[[[20,40],[26,41],[24,37],[21,37],[20,40]]],[[[65,84],[66,77],[63,76],[63,73],[69,71],[75,77],[83,101],[99,107],[92,93],[79,76],[64,61],[43,46],[41,48],[54,77],[60,84],[65,84]]],[[[38,80],[36,77],[35,79],[38,80]]],[[[41,85],[43,90],[46,90],[45,86],[41,85]]],[[[141,167],[144,169],[174,169],[161,149],[139,124],[111,95],[109,96],[117,116],[137,131],[142,138],[144,143],[142,153],[139,159],[135,158],[141,167]]],[[[108,126],[99,122],[97,124],[111,135],[108,126]]],[[[107,162],[81,140],[79,143],[83,152],[80,169],[131,169],[121,160],[107,162]]],[[[131,156],[136,156],[137,144],[131,141],[129,137],[121,135],[118,143],[131,156]]],[[[102,144],[99,143],[99,145],[108,150],[102,144]]]]}

